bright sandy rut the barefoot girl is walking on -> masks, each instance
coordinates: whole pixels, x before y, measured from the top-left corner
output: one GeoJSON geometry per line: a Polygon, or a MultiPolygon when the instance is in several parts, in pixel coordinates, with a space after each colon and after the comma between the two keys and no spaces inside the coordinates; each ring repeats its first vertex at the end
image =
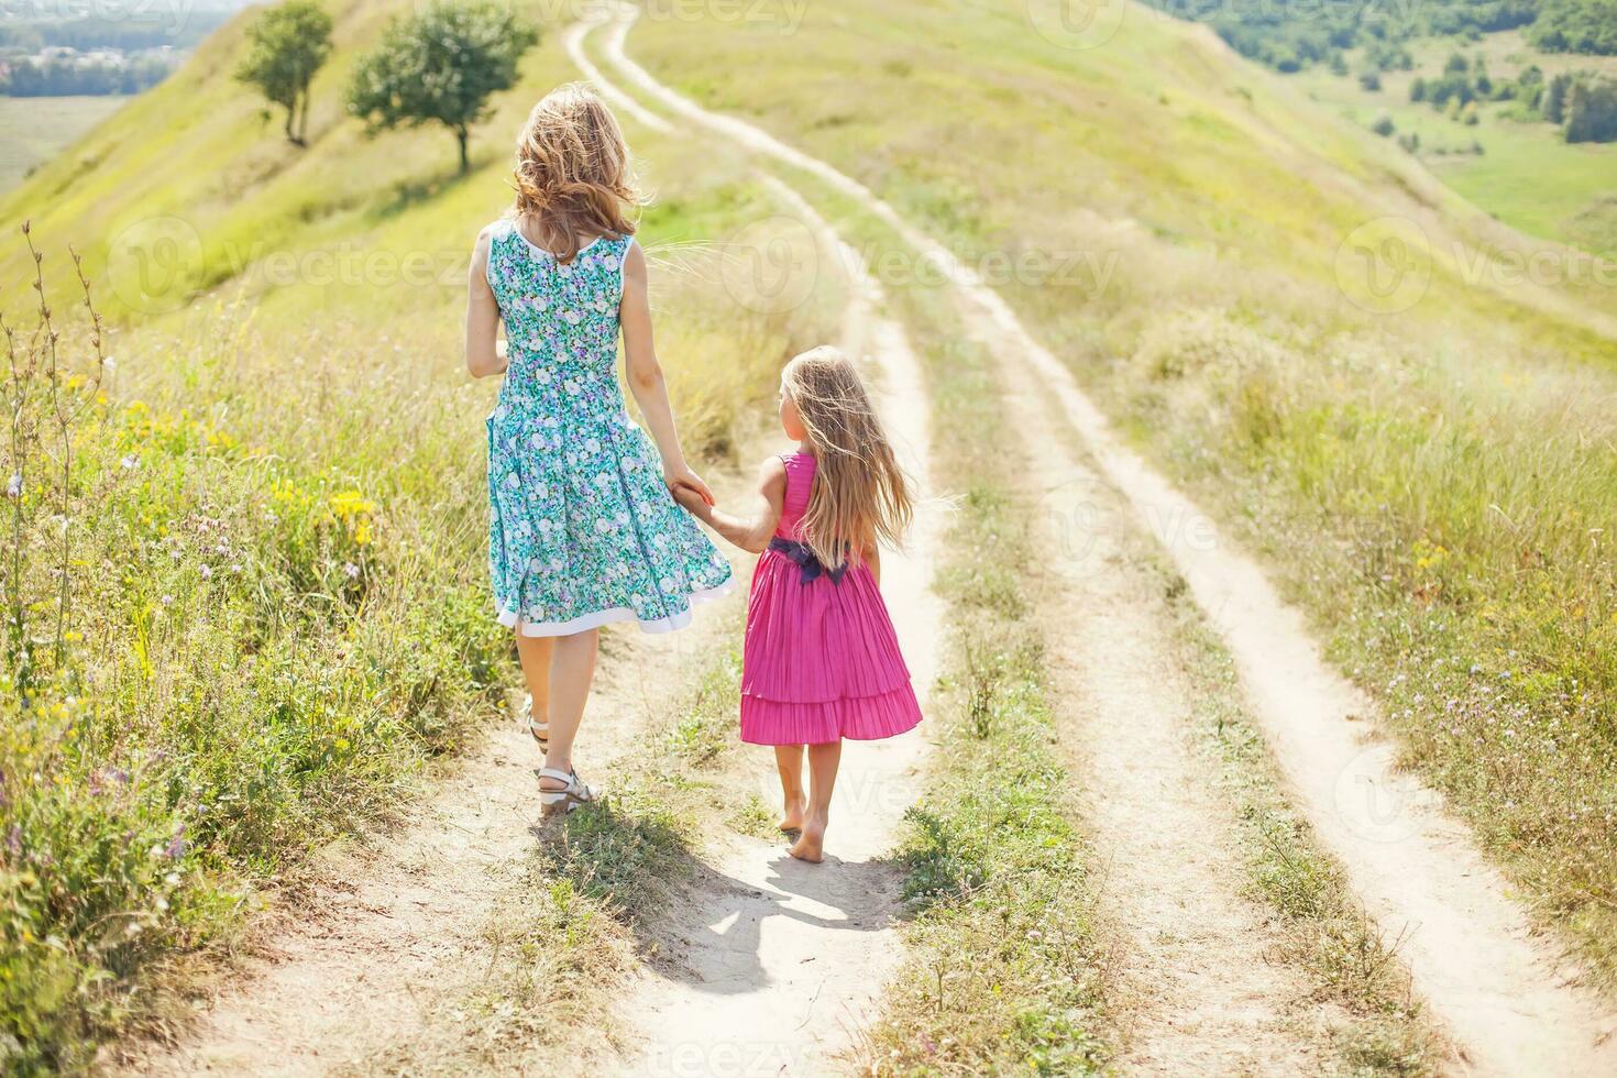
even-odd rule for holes
{"type": "MultiPolygon", "coordinates": [[[[587,27],[585,27],[587,32],[587,27]]],[[[581,66],[582,32],[569,37],[581,66]]],[[[593,69],[593,66],[590,66],[593,69]]],[[[626,95],[598,69],[592,79],[613,100],[626,95]]],[[[644,112],[644,110],[642,110],[644,112]]],[[[876,402],[904,467],[930,490],[927,394],[902,330],[880,312],[883,297],[857,254],[796,192],[765,178],[810,229],[821,259],[847,275],[842,346],[865,357],[876,402]]],[[[910,674],[925,706],[936,679],[941,604],[930,590],[939,540],[936,503],[927,503],[909,551],[883,554],[888,600],[910,674]]],[[[678,939],[621,1004],[639,1044],[624,1067],[637,1075],[815,1075],[836,1068],[868,1021],[899,962],[894,916],[897,870],[880,861],[917,795],[922,731],[844,748],[826,834],[826,861],[805,865],[784,842],[734,837],[676,912],[678,939]]],[[[779,794],[773,760],[749,760],[766,805],[779,794]]]]}

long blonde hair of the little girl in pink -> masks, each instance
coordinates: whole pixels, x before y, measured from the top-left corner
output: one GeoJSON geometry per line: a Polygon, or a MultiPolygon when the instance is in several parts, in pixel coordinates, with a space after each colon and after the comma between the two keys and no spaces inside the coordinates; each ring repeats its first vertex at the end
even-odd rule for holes
{"type": "Polygon", "coordinates": [[[830,569],[878,541],[897,546],[915,503],[859,370],[821,346],[786,364],[781,385],[815,456],[808,509],[797,524],[804,546],[830,569]]]}

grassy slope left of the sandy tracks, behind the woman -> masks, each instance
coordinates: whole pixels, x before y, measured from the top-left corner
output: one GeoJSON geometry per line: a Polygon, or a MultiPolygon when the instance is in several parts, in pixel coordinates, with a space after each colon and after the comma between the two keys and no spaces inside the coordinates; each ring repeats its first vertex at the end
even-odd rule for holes
{"type": "MultiPolygon", "coordinates": [[[[249,13],[0,200],[0,310],[26,346],[29,220],[84,409],[66,656],[31,674],[26,706],[0,693],[5,1070],[78,1068],[150,1018],[154,971],[183,981],[176,954],[209,954],[304,852],[396,811],[505,714],[516,667],[483,548],[495,386],[461,365],[466,263],[509,204],[521,120],[577,73],[551,8],[519,5],[543,40],[458,176],[450,134],[372,141],[341,112],[354,58],[414,6],[328,6],[307,150],[231,78],[249,13]],[[70,246],[108,318],[99,396],[70,246]]],[[[778,212],[766,189],[629,136],[652,162],[642,244],[686,448],[724,459],[781,359],[825,335],[834,283],[792,310],[758,302],[711,241],[778,212]]],[[[63,567],[47,480],[29,474],[31,525],[6,538],[40,635],[63,567]]]]}

